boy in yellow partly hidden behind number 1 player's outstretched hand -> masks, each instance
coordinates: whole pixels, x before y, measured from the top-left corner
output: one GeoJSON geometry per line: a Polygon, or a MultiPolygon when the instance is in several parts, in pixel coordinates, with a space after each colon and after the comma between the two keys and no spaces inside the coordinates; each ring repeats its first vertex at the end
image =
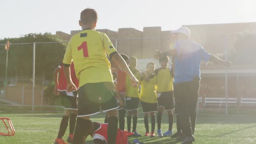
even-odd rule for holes
{"type": "MultiPolygon", "coordinates": [[[[137,66],[137,58],[132,56],[130,58],[129,68],[131,72],[135,75],[137,79],[141,78],[141,72],[136,69],[137,66]]],[[[138,121],[138,105],[139,105],[139,86],[133,88],[131,86],[131,80],[129,80],[128,76],[126,75],[126,82],[125,82],[125,109],[128,111],[127,115],[127,130],[131,132],[131,116],[132,116],[132,132],[134,134],[132,136],[141,137],[141,134],[138,134],[136,131],[137,128],[137,121],[138,121]]]]}

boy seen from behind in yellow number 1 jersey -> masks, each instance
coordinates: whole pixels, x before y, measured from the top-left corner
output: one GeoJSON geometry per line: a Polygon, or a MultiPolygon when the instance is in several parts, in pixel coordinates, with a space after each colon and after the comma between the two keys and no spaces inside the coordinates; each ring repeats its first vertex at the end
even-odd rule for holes
{"type": "MultiPolygon", "coordinates": [[[[108,54],[127,73],[134,86],[138,80],[131,73],[124,59],[118,54],[105,33],[95,31],[98,14],[87,8],[81,12],[80,33],[70,39],[63,59],[67,79],[67,91],[76,89],[70,78],[69,65],[73,61],[79,79],[77,121],[73,144],[82,144],[83,136],[89,131],[90,116],[102,112],[108,115],[108,144],[115,144],[118,131],[118,104],[111,74],[108,54]]],[[[86,138],[86,137],[85,137],[86,138]]]]}

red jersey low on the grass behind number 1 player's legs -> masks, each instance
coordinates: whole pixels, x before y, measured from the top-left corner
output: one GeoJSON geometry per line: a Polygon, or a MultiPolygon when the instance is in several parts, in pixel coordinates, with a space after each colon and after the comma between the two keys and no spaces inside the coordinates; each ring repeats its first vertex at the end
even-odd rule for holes
{"type": "MultiPolygon", "coordinates": [[[[103,137],[105,141],[108,141],[108,124],[100,124],[100,127],[92,134],[93,139],[95,139],[94,137],[97,138],[98,136],[103,137]]],[[[125,132],[121,131],[119,128],[116,135],[115,144],[128,144],[128,137],[125,135],[125,132]]]]}

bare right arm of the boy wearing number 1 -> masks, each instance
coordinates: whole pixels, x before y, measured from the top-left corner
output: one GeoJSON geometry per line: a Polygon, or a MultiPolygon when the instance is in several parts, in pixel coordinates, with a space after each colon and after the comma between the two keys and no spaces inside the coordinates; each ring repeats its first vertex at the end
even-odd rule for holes
{"type": "Polygon", "coordinates": [[[115,63],[118,64],[118,66],[120,66],[121,69],[123,69],[126,72],[126,74],[131,79],[133,86],[137,87],[139,84],[138,79],[136,79],[135,76],[132,74],[131,70],[129,69],[125,60],[120,56],[120,54],[116,52],[112,55],[112,59],[115,61],[115,63]]]}

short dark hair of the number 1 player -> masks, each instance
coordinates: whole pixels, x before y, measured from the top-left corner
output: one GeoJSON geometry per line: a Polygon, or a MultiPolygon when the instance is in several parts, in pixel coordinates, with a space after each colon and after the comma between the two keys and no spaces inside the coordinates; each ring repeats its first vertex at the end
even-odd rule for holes
{"type": "Polygon", "coordinates": [[[82,24],[92,24],[98,20],[98,14],[96,10],[87,8],[80,14],[80,21],[82,24]]]}

